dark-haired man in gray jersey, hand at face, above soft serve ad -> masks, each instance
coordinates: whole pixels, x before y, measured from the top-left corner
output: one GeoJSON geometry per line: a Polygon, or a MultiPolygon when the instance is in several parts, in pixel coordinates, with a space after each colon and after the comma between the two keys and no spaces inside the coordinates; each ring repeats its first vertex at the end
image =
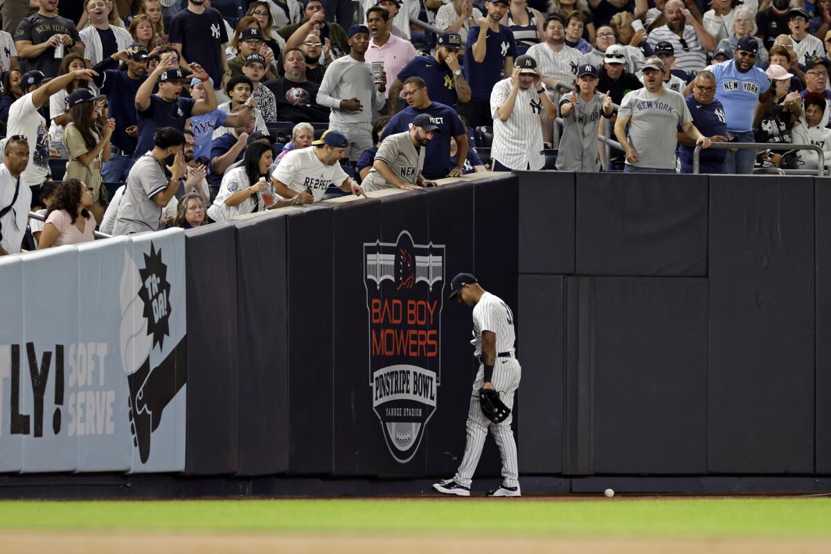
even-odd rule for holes
{"type": "Polygon", "coordinates": [[[118,207],[114,235],[160,231],[161,211],[179,189],[184,177],[184,135],[173,127],[160,127],[153,135],[153,150],[135,160],[124,197],[118,207]],[[174,157],[172,165],[166,165],[174,157]],[[165,166],[170,179],[165,175],[165,166]]]}

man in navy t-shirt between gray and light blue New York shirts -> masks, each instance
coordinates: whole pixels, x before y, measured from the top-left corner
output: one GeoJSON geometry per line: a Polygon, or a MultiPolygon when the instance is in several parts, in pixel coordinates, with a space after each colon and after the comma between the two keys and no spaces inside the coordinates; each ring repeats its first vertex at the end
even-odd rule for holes
{"type": "MultiPolygon", "coordinates": [[[[713,142],[727,140],[727,122],[725,110],[720,101],[715,100],[715,76],[710,71],[699,71],[692,81],[692,95],[686,97],[690,108],[692,124],[701,135],[709,136],[713,142]]],[[[681,159],[681,173],[692,173],[692,152],[696,150],[696,141],[691,140],[682,130],[678,130],[678,154],[681,159]]],[[[699,173],[727,173],[727,150],[708,148],[701,150],[699,173]]]]}

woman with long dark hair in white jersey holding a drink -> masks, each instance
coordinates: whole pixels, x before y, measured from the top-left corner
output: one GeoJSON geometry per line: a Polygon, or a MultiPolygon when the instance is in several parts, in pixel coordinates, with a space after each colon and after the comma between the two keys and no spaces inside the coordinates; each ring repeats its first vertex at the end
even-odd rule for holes
{"type": "Polygon", "coordinates": [[[276,199],[268,168],[274,159],[271,145],[253,142],[243,156],[243,164],[229,169],[222,178],[219,193],[208,215],[214,221],[224,221],[236,215],[262,212],[266,208],[290,206],[292,200],[276,199]],[[276,204],[276,205],[275,205],[276,204]]]}

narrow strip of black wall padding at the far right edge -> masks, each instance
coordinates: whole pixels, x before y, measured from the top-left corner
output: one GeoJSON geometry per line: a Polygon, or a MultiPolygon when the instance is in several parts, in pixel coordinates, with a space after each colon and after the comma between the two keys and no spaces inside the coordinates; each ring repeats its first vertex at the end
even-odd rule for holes
{"type": "Polygon", "coordinates": [[[831,473],[831,188],[815,179],[816,191],[816,472],[831,473]]]}

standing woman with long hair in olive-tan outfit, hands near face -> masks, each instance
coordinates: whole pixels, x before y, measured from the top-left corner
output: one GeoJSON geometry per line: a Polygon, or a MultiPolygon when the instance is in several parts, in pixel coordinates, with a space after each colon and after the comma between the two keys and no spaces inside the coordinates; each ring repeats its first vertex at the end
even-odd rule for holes
{"type": "Polygon", "coordinates": [[[78,89],[69,96],[69,116],[63,145],[66,149],[66,178],[80,179],[89,187],[93,203],[90,207],[96,221],[104,218],[106,199],[101,193],[101,164],[110,159],[110,137],[116,120],[105,120],[103,104],[106,96],[95,96],[88,89],[78,89]]]}

